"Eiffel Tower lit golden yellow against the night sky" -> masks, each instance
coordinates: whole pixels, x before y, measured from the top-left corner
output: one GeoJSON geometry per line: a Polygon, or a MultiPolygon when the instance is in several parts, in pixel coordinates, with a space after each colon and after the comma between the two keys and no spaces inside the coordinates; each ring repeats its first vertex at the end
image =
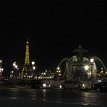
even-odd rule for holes
{"type": "Polygon", "coordinates": [[[30,63],[30,58],[29,58],[29,42],[28,40],[26,41],[26,51],[25,51],[25,62],[24,66],[21,72],[21,79],[28,79],[29,76],[31,76],[32,73],[32,65],[30,63]]]}

